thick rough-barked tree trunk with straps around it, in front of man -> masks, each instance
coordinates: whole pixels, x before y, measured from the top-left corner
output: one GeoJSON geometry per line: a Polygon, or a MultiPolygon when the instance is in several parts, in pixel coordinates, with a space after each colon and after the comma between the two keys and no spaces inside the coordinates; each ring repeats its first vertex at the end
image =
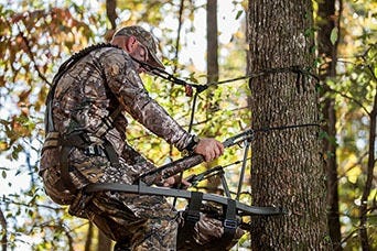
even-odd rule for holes
{"type": "MultiPolygon", "coordinates": [[[[312,1],[249,1],[250,73],[314,62],[312,1]]],[[[319,123],[316,81],[310,75],[270,73],[250,79],[252,128],[319,123]]],[[[256,206],[276,205],[280,217],[251,220],[252,250],[324,250],[324,165],[315,126],[257,133],[251,193],[256,206]]]]}

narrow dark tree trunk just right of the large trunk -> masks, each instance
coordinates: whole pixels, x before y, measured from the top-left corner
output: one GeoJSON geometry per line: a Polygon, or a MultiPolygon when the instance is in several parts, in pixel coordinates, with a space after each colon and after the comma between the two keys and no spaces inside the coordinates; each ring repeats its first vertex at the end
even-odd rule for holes
{"type": "MultiPolygon", "coordinates": [[[[340,3],[341,4],[341,3],[340,3]]],[[[336,77],[336,61],[337,61],[337,39],[332,42],[332,31],[338,29],[338,15],[335,10],[335,0],[319,2],[317,11],[317,33],[319,54],[324,59],[321,67],[320,78],[325,83],[326,78],[336,77]]],[[[323,96],[323,119],[326,122],[323,130],[327,137],[323,140],[323,152],[326,161],[326,184],[327,184],[327,227],[328,234],[332,241],[333,250],[342,250],[341,240],[341,221],[338,209],[338,193],[337,193],[337,164],[336,164],[336,113],[335,100],[327,97],[327,90],[324,88],[323,96]]]]}

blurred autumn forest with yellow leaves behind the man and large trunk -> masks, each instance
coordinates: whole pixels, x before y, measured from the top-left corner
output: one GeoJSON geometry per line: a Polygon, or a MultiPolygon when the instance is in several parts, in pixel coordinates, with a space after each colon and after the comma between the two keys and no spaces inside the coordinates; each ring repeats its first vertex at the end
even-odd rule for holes
{"type": "MultiPolygon", "coordinates": [[[[226,2],[218,1],[218,74],[213,78],[206,67],[203,17],[207,1],[0,1],[0,229],[3,250],[7,247],[15,250],[106,250],[104,247],[111,245],[86,220],[72,218],[66,208],[54,205],[45,196],[37,176],[44,138],[44,100],[60,64],[90,44],[108,41],[118,25],[140,24],[158,37],[166,70],[182,79],[205,84],[245,76],[247,1],[226,2]]],[[[313,1],[316,23],[308,31],[315,37],[321,36],[321,22],[324,22],[317,12],[321,3],[313,1]]],[[[377,146],[376,141],[370,140],[376,137],[377,3],[371,0],[334,3],[335,12],[331,18],[335,25],[330,37],[336,54],[334,73],[322,77],[319,84],[320,89],[326,90],[319,92],[322,105],[325,106],[330,98],[336,118],[332,132],[326,130],[328,118],[323,116],[324,129],[320,137],[333,145],[334,151],[324,151],[323,157],[334,160],[336,164],[336,179],[332,186],[337,187],[338,193],[335,216],[341,223],[340,248],[360,249],[363,217],[367,218],[369,244],[376,248],[376,161],[373,157],[370,168],[368,160],[376,155],[377,146]],[[365,190],[368,190],[366,199],[365,190]],[[367,210],[362,214],[363,205],[367,205],[367,210]]],[[[322,76],[321,67],[328,58],[321,55],[319,46],[317,42],[313,50],[317,55],[317,74],[322,76]]],[[[143,80],[151,96],[188,128],[193,98],[185,95],[184,88],[149,76],[143,76],[143,80]]],[[[247,129],[251,117],[249,98],[247,80],[218,85],[203,92],[196,103],[192,132],[224,140],[247,129]]],[[[128,132],[130,143],[158,165],[180,157],[176,150],[140,130],[134,122],[128,132]]],[[[227,165],[241,156],[240,149],[227,150],[225,156],[211,166],[227,165]]],[[[207,167],[201,165],[186,175],[207,167]]],[[[237,185],[238,172],[239,165],[227,168],[231,189],[237,185]]],[[[245,201],[251,201],[247,196],[249,181],[247,176],[245,198],[241,198],[245,201]]],[[[206,185],[215,189],[213,184],[206,185]]],[[[177,206],[183,205],[184,201],[180,201],[177,206]]],[[[247,234],[236,249],[249,249],[247,234]]]]}

